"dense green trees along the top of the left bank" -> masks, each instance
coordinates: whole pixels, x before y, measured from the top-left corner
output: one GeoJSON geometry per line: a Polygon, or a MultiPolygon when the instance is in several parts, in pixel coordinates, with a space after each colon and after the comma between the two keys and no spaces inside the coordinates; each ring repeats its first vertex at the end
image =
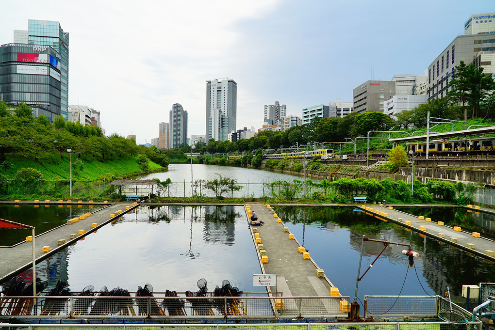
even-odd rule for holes
{"type": "Polygon", "coordinates": [[[56,164],[71,149],[83,161],[131,159],[141,154],[158,165],[168,165],[168,158],[156,147],[138,146],[117,133],[105,137],[99,127],[66,122],[61,116],[53,123],[45,116],[34,119],[32,108],[24,103],[12,111],[0,101],[0,136],[0,163],[8,156],[56,164]]]}

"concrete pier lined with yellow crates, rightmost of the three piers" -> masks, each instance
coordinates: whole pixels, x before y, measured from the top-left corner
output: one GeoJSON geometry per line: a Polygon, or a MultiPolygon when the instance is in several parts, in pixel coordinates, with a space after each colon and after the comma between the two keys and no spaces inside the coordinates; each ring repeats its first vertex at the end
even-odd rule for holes
{"type": "MultiPolygon", "coordinates": [[[[373,214],[380,219],[386,219],[397,223],[405,228],[414,230],[422,235],[432,237],[440,242],[460,248],[468,253],[478,255],[482,258],[495,262],[495,241],[481,237],[479,233],[467,232],[461,227],[449,227],[442,221],[435,221],[424,216],[415,216],[409,213],[393,209],[393,206],[363,205],[355,206],[364,212],[373,214]]],[[[473,212],[480,209],[466,207],[473,212]]],[[[487,212],[489,209],[487,209],[487,212]]],[[[484,209],[481,211],[485,211],[484,209]]]]}

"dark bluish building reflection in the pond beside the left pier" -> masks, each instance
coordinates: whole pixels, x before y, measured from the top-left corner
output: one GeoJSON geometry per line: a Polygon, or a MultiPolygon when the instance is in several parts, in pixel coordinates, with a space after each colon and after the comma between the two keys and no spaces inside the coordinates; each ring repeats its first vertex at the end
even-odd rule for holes
{"type": "MultiPolygon", "coordinates": [[[[55,287],[58,280],[68,282],[68,265],[67,249],[63,249],[36,265],[36,277],[39,277],[42,282],[47,281],[48,289],[51,289],[55,287]]],[[[22,276],[26,282],[31,282],[33,269],[29,268],[17,276],[22,276]]]]}

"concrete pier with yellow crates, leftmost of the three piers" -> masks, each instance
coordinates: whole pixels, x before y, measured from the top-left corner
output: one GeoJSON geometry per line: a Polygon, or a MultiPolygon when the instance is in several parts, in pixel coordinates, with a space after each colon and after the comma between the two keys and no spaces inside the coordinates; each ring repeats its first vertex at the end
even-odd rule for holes
{"type": "MultiPolygon", "coordinates": [[[[133,203],[130,202],[109,205],[91,213],[90,216],[87,216],[85,219],[81,219],[73,224],[64,224],[43,234],[36,235],[36,263],[46,259],[57,251],[76,243],[83,237],[97,231],[105,224],[117,219],[122,216],[122,214],[127,213],[138,206],[139,205],[133,205],[133,203]],[[126,206],[128,206],[128,209],[126,209],[126,206]],[[120,213],[119,210],[121,211],[120,213]],[[111,217],[111,214],[114,214],[114,216],[111,217]],[[95,227],[93,227],[94,223],[97,224],[95,227]],[[71,238],[71,234],[75,234],[75,237],[72,235],[73,238],[71,238]],[[65,240],[65,243],[58,242],[59,240],[65,240]],[[43,252],[43,247],[45,246],[50,247],[49,252],[43,252]]],[[[31,235],[30,230],[25,231],[26,236],[31,235]]],[[[12,247],[0,247],[0,283],[4,282],[17,272],[31,268],[32,262],[33,253],[31,242],[22,242],[12,247]]]]}

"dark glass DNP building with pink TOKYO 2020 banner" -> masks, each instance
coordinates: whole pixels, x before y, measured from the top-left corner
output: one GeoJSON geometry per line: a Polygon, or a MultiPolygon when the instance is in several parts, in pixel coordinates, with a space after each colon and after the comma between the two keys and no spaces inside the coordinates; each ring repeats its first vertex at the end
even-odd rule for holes
{"type": "Polygon", "coordinates": [[[61,114],[59,57],[51,46],[0,46],[0,100],[11,107],[23,102],[33,108],[34,117],[53,122],[61,114]]]}

